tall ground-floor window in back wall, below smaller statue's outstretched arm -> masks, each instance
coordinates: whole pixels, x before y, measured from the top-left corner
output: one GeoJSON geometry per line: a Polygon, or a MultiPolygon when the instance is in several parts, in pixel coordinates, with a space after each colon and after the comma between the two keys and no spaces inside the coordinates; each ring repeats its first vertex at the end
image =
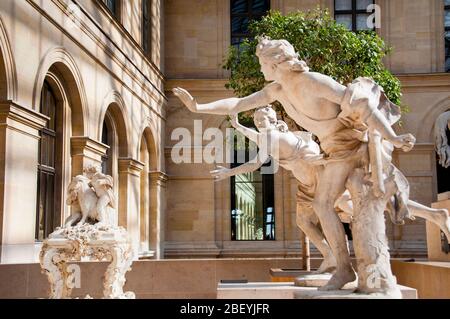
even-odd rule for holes
{"type": "MultiPolygon", "coordinates": [[[[248,139],[245,144],[243,157],[248,161],[254,154],[249,154],[248,139]]],[[[231,167],[240,165],[238,152],[231,167]]],[[[231,240],[275,240],[274,203],[273,174],[257,170],[231,177],[231,240]]]]}

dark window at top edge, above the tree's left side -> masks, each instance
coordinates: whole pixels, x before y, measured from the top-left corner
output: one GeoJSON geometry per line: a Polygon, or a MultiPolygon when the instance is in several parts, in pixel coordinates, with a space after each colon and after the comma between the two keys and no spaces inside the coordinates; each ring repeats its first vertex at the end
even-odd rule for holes
{"type": "Polygon", "coordinates": [[[270,10],[270,0],[231,0],[231,45],[239,49],[244,39],[250,36],[249,23],[261,19],[270,10]]]}

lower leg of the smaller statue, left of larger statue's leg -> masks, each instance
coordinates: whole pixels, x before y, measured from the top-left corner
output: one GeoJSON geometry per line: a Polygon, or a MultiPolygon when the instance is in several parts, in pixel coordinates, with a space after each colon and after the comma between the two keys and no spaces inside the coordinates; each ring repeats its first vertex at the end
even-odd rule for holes
{"type": "Polygon", "coordinates": [[[336,259],[333,256],[333,252],[331,251],[322,230],[318,227],[315,217],[312,207],[306,207],[301,203],[297,203],[297,226],[322,254],[324,260],[316,271],[317,273],[322,274],[336,269],[336,259]]]}

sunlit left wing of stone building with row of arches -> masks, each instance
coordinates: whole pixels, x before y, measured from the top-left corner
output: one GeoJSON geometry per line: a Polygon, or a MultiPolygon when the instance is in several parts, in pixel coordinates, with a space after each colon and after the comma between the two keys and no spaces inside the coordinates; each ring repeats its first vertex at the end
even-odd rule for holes
{"type": "Polygon", "coordinates": [[[144,38],[141,1],[0,2],[4,262],[34,256],[68,216],[71,177],[102,162],[135,249],[161,256],[163,9],[159,0],[148,3],[144,38]]]}

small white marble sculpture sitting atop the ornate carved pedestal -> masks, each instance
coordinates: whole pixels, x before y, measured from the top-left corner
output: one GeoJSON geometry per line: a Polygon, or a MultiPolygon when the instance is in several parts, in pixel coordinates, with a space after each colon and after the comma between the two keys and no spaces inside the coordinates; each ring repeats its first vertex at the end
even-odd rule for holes
{"type": "Polygon", "coordinates": [[[95,165],[86,167],[83,175],[72,179],[67,204],[71,206],[71,214],[64,223],[66,227],[83,225],[88,221],[117,226],[113,179],[95,165]]]}

